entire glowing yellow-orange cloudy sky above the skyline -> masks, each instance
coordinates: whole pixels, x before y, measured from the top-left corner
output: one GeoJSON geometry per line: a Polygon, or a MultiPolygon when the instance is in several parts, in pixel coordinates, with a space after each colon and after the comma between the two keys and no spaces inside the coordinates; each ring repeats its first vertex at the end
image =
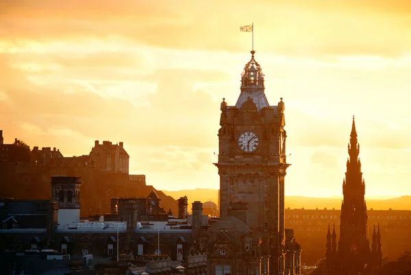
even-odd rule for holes
{"type": "Polygon", "coordinates": [[[255,25],[286,104],[287,195],[340,196],[356,115],[367,196],[411,194],[411,1],[2,1],[0,129],[31,147],[125,142],[159,189],[218,188],[220,103],[255,25]]]}

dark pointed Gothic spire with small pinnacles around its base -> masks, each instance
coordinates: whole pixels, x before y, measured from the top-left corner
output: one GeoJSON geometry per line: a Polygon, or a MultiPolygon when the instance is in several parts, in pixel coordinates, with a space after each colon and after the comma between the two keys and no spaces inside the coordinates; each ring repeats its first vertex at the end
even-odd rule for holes
{"type": "Polygon", "coordinates": [[[373,232],[370,249],[366,214],[365,183],[362,179],[360,144],[357,140],[356,122],[353,118],[348,144],[349,159],[343,181],[343,203],[340,215],[338,247],[335,228],[327,233],[326,274],[376,274],[381,267],[381,235],[373,232]]]}

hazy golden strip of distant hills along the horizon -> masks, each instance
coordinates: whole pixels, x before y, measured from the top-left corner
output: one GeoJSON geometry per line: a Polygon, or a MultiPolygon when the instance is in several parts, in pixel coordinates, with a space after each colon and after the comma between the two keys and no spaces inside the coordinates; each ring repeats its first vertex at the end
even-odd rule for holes
{"type": "MultiPolygon", "coordinates": [[[[216,189],[187,189],[179,191],[163,191],[164,194],[172,196],[176,200],[179,197],[188,197],[188,209],[190,211],[191,203],[195,200],[200,200],[201,202],[206,202],[212,200],[218,204],[218,190],[216,189]]],[[[329,198],[316,198],[316,197],[306,197],[306,196],[286,196],[286,207],[291,209],[295,208],[306,208],[306,209],[316,209],[316,208],[341,208],[341,201],[343,197],[329,197],[329,198]]],[[[399,198],[388,198],[388,199],[376,199],[376,198],[366,198],[367,209],[375,210],[411,210],[411,196],[401,196],[399,198]]]]}

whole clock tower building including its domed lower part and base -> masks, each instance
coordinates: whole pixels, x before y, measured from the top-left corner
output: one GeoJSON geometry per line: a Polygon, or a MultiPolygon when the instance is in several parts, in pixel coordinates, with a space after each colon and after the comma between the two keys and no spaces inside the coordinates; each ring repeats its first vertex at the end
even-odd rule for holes
{"type": "Polygon", "coordinates": [[[300,274],[301,248],[284,224],[284,179],[290,166],[284,102],[269,105],[254,53],[242,72],[236,105],[221,103],[215,163],[221,220],[209,229],[208,273],[300,274]]]}

